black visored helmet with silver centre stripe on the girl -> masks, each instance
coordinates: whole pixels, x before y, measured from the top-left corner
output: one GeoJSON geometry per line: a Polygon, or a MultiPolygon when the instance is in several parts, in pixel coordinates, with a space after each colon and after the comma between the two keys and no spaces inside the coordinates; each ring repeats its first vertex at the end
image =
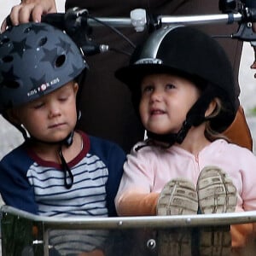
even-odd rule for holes
{"type": "Polygon", "coordinates": [[[205,111],[215,96],[222,100],[225,112],[211,119],[212,129],[224,131],[235,119],[239,90],[230,61],[217,41],[204,32],[189,26],[162,27],[135,50],[129,66],[117,70],[115,75],[131,89],[136,108],[141,96],[140,82],[150,73],[177,73],[195,84],[205,84],[203,95],[184,122],[189,127],[205,120],[205,111]]]}

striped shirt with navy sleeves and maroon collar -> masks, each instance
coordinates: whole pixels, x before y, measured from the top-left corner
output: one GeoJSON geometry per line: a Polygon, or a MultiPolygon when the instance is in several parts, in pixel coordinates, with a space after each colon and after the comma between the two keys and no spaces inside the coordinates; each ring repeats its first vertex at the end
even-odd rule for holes
{"type": "MultiPolygon", "coordinates": [[[[114,143],[79,133],[84,148],[67,163],[74,178],[70,189],[64,185],[61,165],[38,158],[23,143],[0,162],[3,201],[49,217],[116,216],[114,197],[123,173],[125,153],[114,143]]],[[[87,230],[87,235],[88,232],[91,233],[87,230]]]]}

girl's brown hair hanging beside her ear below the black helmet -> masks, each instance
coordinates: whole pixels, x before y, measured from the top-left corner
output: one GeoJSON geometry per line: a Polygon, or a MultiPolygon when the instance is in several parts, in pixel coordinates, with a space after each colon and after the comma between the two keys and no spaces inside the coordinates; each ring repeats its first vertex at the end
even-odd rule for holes
{"type": "Polygon", "coordinates": [[[222,103],[222,101],[216,97],[214,98],[215,102],[216,102],[216,108],[213,110],[213,112],[207,117],[207,122],[206,122],[206,129],[205,129],[205,137],[210,141],[213,142],[219,138],[222,138],[224,140],[226,140],[227,142],[230,143],[230,139],[228,137],[225,137],[224,134],[215,131],[212,128],[211,125],[211,120],[214,119],[215,117],[218,116],[219,113],[224,112],[224,104],[222,103]]]}

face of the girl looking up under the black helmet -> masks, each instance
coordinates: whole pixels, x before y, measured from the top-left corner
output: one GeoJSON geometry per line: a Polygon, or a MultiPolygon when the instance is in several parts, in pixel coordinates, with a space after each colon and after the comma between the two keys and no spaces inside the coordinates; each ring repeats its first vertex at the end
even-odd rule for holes
{"type": "Polygon", "coordinates": [[[176,133],[201,91],[188,79],[171,74],[152,74],[142,81],[139,111],[146,130],[176,133]]]}

